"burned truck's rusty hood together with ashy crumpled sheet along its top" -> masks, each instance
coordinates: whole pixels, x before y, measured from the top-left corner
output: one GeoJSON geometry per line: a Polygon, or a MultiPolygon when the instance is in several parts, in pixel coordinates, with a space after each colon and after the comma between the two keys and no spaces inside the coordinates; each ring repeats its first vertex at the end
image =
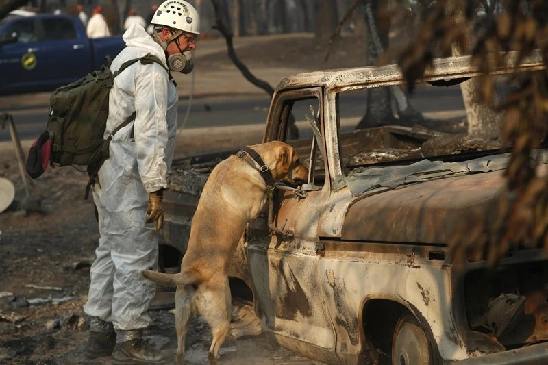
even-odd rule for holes
{"type": "MultiPolygon", "coordinates": [[[[340,238],[369,242],[447,244],[456,229],[462,229],[462,223],[473,216],[475,210],[487,207],[503,189],[506,179],[501,166],[506,166],[507,159],[508,155],[488,156],[487,160],[476,165],[479,166],[477,171],[471,171],[470,168],[480,159],[439,162],[430,171],[434,179],[429,181],[428,171],[411,175],[397,173],[397,167],[407,168],[406,172],[409,173],[413,171],[413,165],[393,166],[388,171],[390,179],[382,177],[386,175],[382,173],[384,168],[369,173],[362,171],[363,179],[371,179],[373,176],[376,182],[366,184],[359,181],[361,190],[368,190],[370,194],[366,196],[366,192],[362,192],[360,196],[360,189],[357,188],[359,175],[353,177],[356,181],[349,179],[349,188],[354,189],[353,194],[358,196],[345,214],[340,238]],[[468,172],[461,171],[456,164],[464,164],[468,172]],[[490,164],[495,171],[479,173],[490,164]],[[452,166],[454,171],[444,166],[452,166]],[[440,178],[442,173],[444,178],[440,178]],[[417,184],[409,185],[406,181],[417,184]],[[385,189],[384,192],[375,194],[379,188],[385,189]]],[[[548,170],[545,153],[539,155],[538,163],[538,173],[545,175],[548,170]]]]}

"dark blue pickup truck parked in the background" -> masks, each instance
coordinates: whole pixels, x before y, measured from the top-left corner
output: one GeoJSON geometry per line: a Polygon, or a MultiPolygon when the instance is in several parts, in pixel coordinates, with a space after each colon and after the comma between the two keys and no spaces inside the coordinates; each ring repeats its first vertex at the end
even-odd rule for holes
{"type": "Polygon", "coordinates": [[[88,38],[77,17],[10,14],[0,20],[0,95],[54,90],[101,68],[124,46],[120,36],[88,38]]]}

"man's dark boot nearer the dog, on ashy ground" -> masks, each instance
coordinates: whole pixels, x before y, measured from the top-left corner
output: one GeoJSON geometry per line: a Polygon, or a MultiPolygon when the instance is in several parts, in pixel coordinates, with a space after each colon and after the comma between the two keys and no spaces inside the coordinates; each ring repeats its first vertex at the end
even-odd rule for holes
{"type": "Polygon", "coordinates": [[[142,330],[116,330],[119,341],[112,352],[112,359],[116,364],[167,364],[169,354],[156,350],[143,340],[142,330]]]}

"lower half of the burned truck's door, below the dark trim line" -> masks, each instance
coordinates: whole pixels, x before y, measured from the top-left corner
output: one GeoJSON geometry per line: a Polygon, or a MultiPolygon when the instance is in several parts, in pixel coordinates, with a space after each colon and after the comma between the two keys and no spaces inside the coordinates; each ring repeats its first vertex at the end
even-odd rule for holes
{"type": "Polygon", "coordinates": [[[269,247],[250,246],[249,266],[264,330],[296,342],[333,349],[334,331],[319,299],[319,278],[313,242],[273,238],[269,247]]]}

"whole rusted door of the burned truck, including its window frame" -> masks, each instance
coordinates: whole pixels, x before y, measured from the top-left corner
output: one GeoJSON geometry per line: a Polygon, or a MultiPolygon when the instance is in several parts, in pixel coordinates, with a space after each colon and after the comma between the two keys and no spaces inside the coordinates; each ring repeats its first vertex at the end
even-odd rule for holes
{"type": "Polygon", "coordinates": [[[315,155],[311,153],[314,134],[305,118],[305,114],[309,118],[317,116],[321,130],[321,88],[285,92],[277,98],[269,111],[266,139],[291,144],[306,166],[312,158],[316,177],[314,180],[312,174],[309,183],[314,185],[314,191],[306,192],[306,197],[294,191],[275,192],[273,225],[282,234],[269,235],[264,227],[250,226],[251,280],[267,331],[295,343],[334,349],[336,338],[323,301],[319,278],[323,274],[318,272],[320,257],[316,254],[318,218],[323,201],[327,200],[325,194],[329,196],[329,183],[325,183],[323,151],[317,143],[315,155]],[[296,120],[298,139],[292,139],[291,116],[296,120]]]}

